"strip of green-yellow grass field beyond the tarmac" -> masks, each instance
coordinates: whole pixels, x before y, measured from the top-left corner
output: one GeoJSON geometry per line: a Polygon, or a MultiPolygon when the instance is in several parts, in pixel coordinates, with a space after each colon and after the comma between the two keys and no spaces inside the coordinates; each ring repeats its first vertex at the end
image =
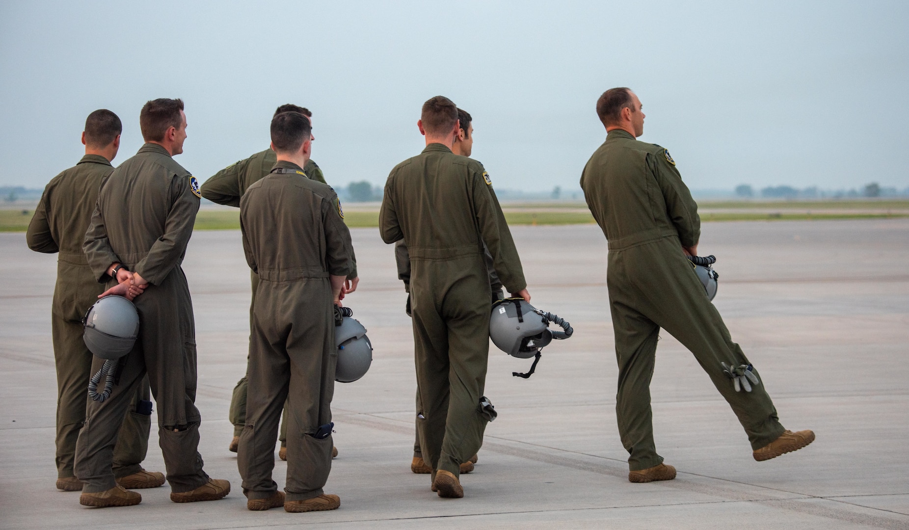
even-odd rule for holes
{"type": "MultiPolygon", "coordinates": [[[[519,204],[505,205],[505,219],[510,225],[585,225],[594,222],[593,215],[576,211],[580,205],[575,203],[554,204],[519,204]],[[574,211],[553,211],[569,208],[574,211]],[[544,211],[535,211],[544,210],[544,211]],[[514,211],[518,210],[518,211],[514,211]]],[[[909,217],[909,201],[824,201],[799,203],[763,203],[763,202],[723,202],[701,203],[702,208],[736,209],[737,212],[702,212],[701,220],[710,221],[811,221],[827,219],[880,219],[888,217],[909,217]],[[754,208],[774,209],[779,212],[753,212],[754,208]],[[823,213],[811,213],[811,209],[824,210],[823,213]],[[830,210],[862,209],[863,212],[831,212],[830,210]],[[892,213],[891,209],[900,210],[892,213]]],[[[0,209],[0,232],[24,232],[34,210],[0,209]]],[[[200,210],[195,217],[196,230],[235,230],[240,227],[240,210],[200,210]]],[[[378,226],[379,213],[351,212],[345,213],[345,222],[350,227],[378,226]]]]}

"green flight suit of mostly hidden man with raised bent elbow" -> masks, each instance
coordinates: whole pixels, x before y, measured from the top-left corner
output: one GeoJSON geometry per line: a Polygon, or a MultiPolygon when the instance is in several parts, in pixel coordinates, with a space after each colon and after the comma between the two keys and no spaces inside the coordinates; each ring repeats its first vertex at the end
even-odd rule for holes
{"type": "MultiPolygon", "coordinates": [[[[240,197],[246,193],[246,189],[265,178],[265,175],[268,175],[268,172],[275,166],[275,162],[277,162],[277,155],[275,155],[275,151],[269,148],[235,164],[228,165],[205,181],[205,184],[202,185],[202,196],[219,205],[239,207],[240,197]]],[[[303,171],[308,178],[325,184],[325,175],[323,175],[322,169],[313,160],[306,163],[303,171]]],[[[255,288],[259,285],[259,277],[254,272],[250,272],[250,283],[253,286],[253,301],[249,305],[249,326],[252,329],[255,288]]],[[[231,395],[228,415],[230,423],[234,425],[235,436],[239,436],[243,432],[246,421],[248,375],[249,367],[247,366],[246,375],[237,381],[233,395],[231,395]]],[[[287,415],[284,415],[284,419],[281,422],[280,435],[282,445],[287,439],[286,420],[287,415]]]]}

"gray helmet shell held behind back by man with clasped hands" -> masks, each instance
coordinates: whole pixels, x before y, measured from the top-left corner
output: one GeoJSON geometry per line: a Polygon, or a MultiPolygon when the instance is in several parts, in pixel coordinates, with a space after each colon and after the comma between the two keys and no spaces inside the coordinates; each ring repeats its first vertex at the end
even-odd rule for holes
{"type": "Polygon", "coordinates": [[[119,359],[128,354],[139,336],[139,312],[123,296],[109,295],[98,300],[82,323],[85,345],[102,359],[119,359]]]}

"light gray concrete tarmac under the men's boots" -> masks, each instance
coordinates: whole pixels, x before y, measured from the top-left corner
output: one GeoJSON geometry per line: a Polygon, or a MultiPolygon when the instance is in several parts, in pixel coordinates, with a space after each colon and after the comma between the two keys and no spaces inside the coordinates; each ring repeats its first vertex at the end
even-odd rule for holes
{"type": "MultiPolygon", "coordinates": [[[[227,408],[244,374],[249,273],[238,231],[196,232],[184,264],[195,305],[200,452],[231,481],[224,500],[179,505],[167,485],[141,505],[93,509],[55,489],[54,255],[0,234],[0,527],[2,528],[909,528],[909,219],[704,225],[718,258],[714,303],[757,365],[787,428],[813,445],[767,462],[672,336],[651,391],[657,448],[673,481],[630,484],[615,427],[616,365],[595,225],[517,226],[533,303],[574,337],[530,361],[490,347],[486,395],[499,413],[463,499],[441,499],[410,472],[415,375],[405,292],[392,245],[354,229],[360,287],[346,305],[368,328],[374,362],[335,389],[332,512],[245,507],[227,408]]],[[[155,443],[145,468],[164,471],[155,443]]],[[[275,450],[275,459],[276,459],[275,450]]],[[[283,487],[286,466],[275,465],[283,487]]]]}

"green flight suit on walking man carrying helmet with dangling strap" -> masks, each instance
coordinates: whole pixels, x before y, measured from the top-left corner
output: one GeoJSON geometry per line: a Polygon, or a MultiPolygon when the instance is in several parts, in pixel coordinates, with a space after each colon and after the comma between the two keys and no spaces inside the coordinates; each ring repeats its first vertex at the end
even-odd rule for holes
{"type": "Polygon", "coordinates": [[[521,260],[483,165],[441,144],[395,166],[379,213],[385,243],[410,254],[417,424],[426,464],[459,475],[483,444],[489,355],[484,244],[507,289],[526,286],[521,260]]]}

